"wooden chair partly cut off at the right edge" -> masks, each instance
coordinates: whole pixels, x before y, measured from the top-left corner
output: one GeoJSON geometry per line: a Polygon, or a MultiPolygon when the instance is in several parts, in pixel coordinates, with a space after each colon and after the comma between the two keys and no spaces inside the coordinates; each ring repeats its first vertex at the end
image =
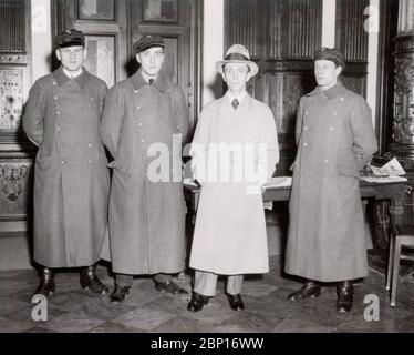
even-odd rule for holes
{"type": "Polygon", "coordinates": [[[399,281],[400,260],[414,261],[414,256],[401,253],[402,247],[414,248],[414,225],[395,225],[390,241],[389,267],[386,274],[386,290],[391,286],[390,305],[395,307],[396,285],[399,281]]]}

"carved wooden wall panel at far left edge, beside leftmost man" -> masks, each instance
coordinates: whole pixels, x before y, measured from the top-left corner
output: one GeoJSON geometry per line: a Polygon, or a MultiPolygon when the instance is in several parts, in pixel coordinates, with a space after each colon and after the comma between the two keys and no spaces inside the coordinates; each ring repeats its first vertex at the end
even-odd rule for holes
{"type": "Polygon", "coordinates": [[[30,0],[0,0],[0,237],[28,229],[34,148],[21,128],[31,85],[30,0]]]}

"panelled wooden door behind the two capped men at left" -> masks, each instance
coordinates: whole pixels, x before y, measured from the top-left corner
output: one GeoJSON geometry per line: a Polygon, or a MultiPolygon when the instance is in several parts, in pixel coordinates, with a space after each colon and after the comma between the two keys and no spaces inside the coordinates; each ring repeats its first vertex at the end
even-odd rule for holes
{"type": "MultiPolygon", "coordinates": [[[[138,63],[133,43],[143,34],[165,40],[163,72],[182,85],[192,123],[198,112],[200,0],[58,0],[53,1],[54,34],[69,28],[85,33],[85,67],[108,87],[131,77],[138,63]]],[[[58,63],[56,63],[58,64],[58,63]]]]}

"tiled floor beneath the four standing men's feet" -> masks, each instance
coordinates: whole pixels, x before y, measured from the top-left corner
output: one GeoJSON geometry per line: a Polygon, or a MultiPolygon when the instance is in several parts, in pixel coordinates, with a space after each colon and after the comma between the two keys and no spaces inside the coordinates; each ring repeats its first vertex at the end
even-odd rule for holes
{"type": "MultiPolygon", "coordinates": [[[[217,296],[201,312],[189,313],[188,297],[158,293],[148,277],[135,278],[132,294],[123,304],[114,305],[107,296],[81,290],[76,272],[61,272],[56,276],[56,295],[48,305],[48,322],[34,322],[31,317],[35,272],[3,271],[0,332],[414,332],[414,283],[410,278],[399,284],[397,306],[390,307],[384,276],[371,270],[369,277],[355,286],[353,311],[338,314],[334,287],[323,288],[317,300],[288,303],[286,296],[300,284],[280,275],[278,256],[271,256],[270,264],[269,274],[245,281],[246,310],[241,312],[228,306],[221,281],[217,296]],[[364,297],[369,294],[379,297],[380,321],[364,320],[364,297]]],[[[113,287],[104,265],[99,266],[99,275],[113,287]]],[[[177,282],[190,290],[190,276],[177,282]]]]}

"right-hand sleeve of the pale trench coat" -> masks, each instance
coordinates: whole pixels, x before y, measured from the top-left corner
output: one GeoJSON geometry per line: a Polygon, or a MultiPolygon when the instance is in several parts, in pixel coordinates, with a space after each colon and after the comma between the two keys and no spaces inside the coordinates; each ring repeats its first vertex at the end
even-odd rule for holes
{"type": "Polygon", "coordinates": [[[269,108],[266,110],[263,124],[260,128],[260,143],[266,144],[266,151],[260,151],[259,153],[266,152],[266,155],[259,154],[259,164],[260,162],[267,164],[267,179],[270,179],[273,175],[276,165],[279,163],[279,143],[275,116],[269,108]]]}

